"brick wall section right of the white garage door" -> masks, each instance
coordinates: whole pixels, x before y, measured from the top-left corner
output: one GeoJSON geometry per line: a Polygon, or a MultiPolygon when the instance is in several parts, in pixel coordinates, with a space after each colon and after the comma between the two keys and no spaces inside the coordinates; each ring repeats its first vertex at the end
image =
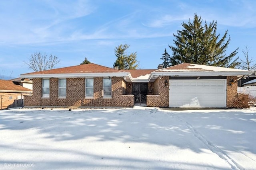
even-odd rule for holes
{"type": "Polygon", "coordinates": [[[227,107],[248,107],[248,95],[237,93],[237,76],[227,76],[227,107]],[[231,81],[234,83],[230,84],[231,81]]]}

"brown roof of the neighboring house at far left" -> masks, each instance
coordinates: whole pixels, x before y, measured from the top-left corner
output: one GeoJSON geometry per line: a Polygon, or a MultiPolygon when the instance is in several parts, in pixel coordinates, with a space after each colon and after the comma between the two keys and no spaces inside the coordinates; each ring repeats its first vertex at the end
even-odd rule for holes
{"type": "Polygon", "coordinates": [[[15,84],[12,80],[0,80],[0,92],[32,92],[32,90],[15,84]]]}

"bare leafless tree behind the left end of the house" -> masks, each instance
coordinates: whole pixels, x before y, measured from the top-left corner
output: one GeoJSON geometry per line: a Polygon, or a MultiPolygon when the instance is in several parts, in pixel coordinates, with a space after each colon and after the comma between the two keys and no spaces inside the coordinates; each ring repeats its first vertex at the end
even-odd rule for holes
{"type": "Polygon", "coordinates": [[[55,66],[60,63],[60,60],[56,55],[47,55],[44,53],[42,55],[40,52],[35,52],[30,56],[30,59],[28,62],[24,61],[25,64],[29,66],[30,69],[37,71],[42,70],[50,70],[55,68],[55,66]]]}

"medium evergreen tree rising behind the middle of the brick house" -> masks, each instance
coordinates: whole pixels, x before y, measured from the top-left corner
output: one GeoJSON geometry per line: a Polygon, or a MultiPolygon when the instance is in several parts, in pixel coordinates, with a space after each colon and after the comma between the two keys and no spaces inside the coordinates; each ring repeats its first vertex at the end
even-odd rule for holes
{"type": "Polygon", "coordinates": [[[137,53],[127,54],[126,50],[130,47],[130,45],[124,44],[119,45],[115,49],[115,55],[117,57],[114,66],[118,66],[120,70],[127,69],[136,69],[138,67],[138,62],[136,60],[137,53]]]}

